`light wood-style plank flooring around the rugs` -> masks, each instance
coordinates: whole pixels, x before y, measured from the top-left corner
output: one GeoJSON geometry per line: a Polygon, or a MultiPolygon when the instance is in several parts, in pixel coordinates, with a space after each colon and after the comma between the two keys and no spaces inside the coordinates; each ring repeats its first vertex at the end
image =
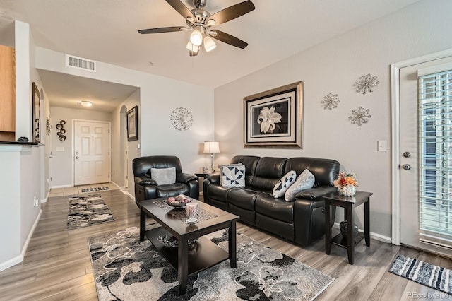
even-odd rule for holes
{"type": "MultiPolygon", "coordinates": [[[[120,190],[95,193],[102,195],[114,222],[66,230],[68,197],[49,198],[42,204],[42,216],[25,260],[0,272],[0,300],[97,300],[87,238],[138,227],[139,211],[120,190]]],[[[333,235],[338,232],[334,230],[333,235]]],[[[355,264],[350,265],[346,249],[333,246],[331,254],[326,255],[323,240],[302,248],[242,223],[237,225],[237,231],[335,278],[316,300],[452,299],[388,272],[398,253],[445,268],[452,268],[450,259],[371,240],[371,247],[366,247],[364,241],[357,246],[355,264]]]]}

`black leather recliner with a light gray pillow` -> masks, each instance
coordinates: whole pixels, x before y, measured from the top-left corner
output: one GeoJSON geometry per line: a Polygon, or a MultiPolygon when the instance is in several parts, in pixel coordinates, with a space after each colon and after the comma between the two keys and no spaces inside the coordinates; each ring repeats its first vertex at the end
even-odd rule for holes
{"type": "Polygon", "coordinates": [[[151,155],[135,158],[132,161],[133,175],[135,176],[135,202],[147,199],[165,198],[185,194],[194,199],[199,199],[198,177],[182,172],[179,158],[173,155],[151,155]],[[174,184],[157,185],[151,178],[151,168],[176,168],[176,182],[174,184]]]}

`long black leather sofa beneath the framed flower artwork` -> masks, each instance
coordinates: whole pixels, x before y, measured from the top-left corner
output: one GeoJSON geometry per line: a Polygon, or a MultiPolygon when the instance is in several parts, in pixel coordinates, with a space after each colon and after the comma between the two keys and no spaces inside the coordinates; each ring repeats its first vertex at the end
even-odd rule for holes
{"type": "MultiPolygon", "coordinates": [[[[321,196],[335,191],[339,162],[321,158],[270,158],[237,155],[231,163],[245,165],[245,187],[222,187],[220,175],[208,175],[203,182],[204,201],[240,216],[242,222],[287,240],[307,246],[325,233],[324,201],[321,196]],[[273,197],[273,187],[290,170],[297,176],[308,169],[314,187],[300,191],[295,201],[273,197]]],[[[335,207],[331,207],[331,225],[335,207]]]]}

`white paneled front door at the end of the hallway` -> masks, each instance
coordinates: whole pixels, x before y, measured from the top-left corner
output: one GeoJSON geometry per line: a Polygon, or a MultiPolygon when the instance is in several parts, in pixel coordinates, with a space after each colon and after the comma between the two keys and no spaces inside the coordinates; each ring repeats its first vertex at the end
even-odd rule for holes
{"type": "Polygon", "coordinates": [[[110,182],[108,122],[74,121],[74,184],[110,182]]]}

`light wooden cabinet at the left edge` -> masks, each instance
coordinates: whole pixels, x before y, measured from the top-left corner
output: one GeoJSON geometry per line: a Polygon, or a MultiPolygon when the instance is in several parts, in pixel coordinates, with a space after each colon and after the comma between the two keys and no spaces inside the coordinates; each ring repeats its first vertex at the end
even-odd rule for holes
{"type": "Polygon", "coordinates": [[[0,141],[14,141],[16,131],[16,52],[0,45],[0,141]]]}

